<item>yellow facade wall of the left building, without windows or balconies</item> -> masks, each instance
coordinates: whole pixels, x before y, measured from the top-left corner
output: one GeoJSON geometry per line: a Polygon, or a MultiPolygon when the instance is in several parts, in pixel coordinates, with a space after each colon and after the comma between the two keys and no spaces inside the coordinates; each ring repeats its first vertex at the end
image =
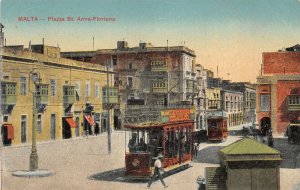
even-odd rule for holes
{"type": "MultiPolygon", "coordinates": [[[[48,105],[46,110],[42,112],[42,132],[37,133],[38,141],[50,140],[50,117],[51,114],[56,115],[56,139],[62,138],[62,117],[64,116],[63,107],[63,85],[75,85],[76,82],[80,82],[80,99],[75,100],[72,107],[72,111],[80,114],[80,123],[83,122],[83,112],[86,102],[90,102],[94,105],[94,112],[103,113],[102,109],[102,86],[106,85],[106,74],[99,73],[100,70],[84,70],[88,67],[88,63],[81,63],[78,61],[67,60],[67,59],[51,59],[43,54],[32,53],[32,52],[4,52],[6,56],[22,57],[27,59],[34,58],[35,63],[15,61],[15,60],[1,60],[3,71],[9,75],[9,81],[17,83],[16,94],[17,102],[13,107],[11,113],[9,113],[8,123],[13,124],[15,138],[13,144],[21,143],[21,115],[27,116],[27,129],[26,137],[27,143],[31,142],[32,134],[32,93],[34,85],[30,81],[30,72],[35,70],[40,74],[42,79],[41,83],[48,84],[48,105]],[[45,60],[52,60],[56,65],[43,64],[45,60]],[[66,63],[66,64],[65,64],[66,63]],[[76,66],[82,64],[81,68],[70,68],[67,66],[76,66]],[[57,66],[59,65],[59,66],[57,66]],[[20,94],[20,77],[26,78],[26,95],[20,94]],[[56,94],[55,96],[50,95],[50,80],[56,80],[56,94]],[[85,84],[86,81],[90,81],[90,97],[85,96],[85,84]],[[99,96],[95,97],[95,84],[99,84],[99,96]]],[[[99,67],[98,67],[99,68],[99,67]]],[[[4,110],[2,110],[2,114],[4,110]]],[[[73,117],[75,120],[75,117],[73,117]]],[[[113,119],[110,120],[113,122],[113,119]]],[[[112,123],[111,123],[112,126],[112,123]]],[[[80,125],[80,134],[83,132],[83,127],[80,125]]],[[[75,137],[75,129],[72,129],[72,137],[75,137]]]]}

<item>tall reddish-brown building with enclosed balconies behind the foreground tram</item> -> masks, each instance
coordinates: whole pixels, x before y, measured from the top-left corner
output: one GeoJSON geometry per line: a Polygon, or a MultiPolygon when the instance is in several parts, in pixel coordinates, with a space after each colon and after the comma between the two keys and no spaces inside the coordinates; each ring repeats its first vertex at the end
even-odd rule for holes
{"type": "MultiPolygon", "coordinates": [[[[96,52],[92,62],[113,65],[117,73],[120,105],[115,107],[115,121],[122,122],[125,105],[165,105],[196,101],[195,53],[184,46],[154,47],[140,43],[129,47],[118,41],[116,49],[96,52]]],[[[120,124],[119,124],[120,125],[120,124]]]]}

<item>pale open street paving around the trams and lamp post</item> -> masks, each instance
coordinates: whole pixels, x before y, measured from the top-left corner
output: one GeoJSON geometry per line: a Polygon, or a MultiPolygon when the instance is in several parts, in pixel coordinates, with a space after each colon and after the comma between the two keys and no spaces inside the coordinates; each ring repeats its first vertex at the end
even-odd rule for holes
{"type": "MultiPolygon", "coordinates": [[[[196,179],[204,176],[207,166],[217,166],[218,150],[236,140],[229,136],[222,143],[201,143],[198,158],[191,167],[165,178],[168,189],[198,189],[196,179]]],[[[124,180],[124,132],[113,132],[112,153],[107,154],[106,134],[38,143],[39,168],[55,172],[43,178],[19,178],[11,175],[16,170],[28,170],[31,146],[12,146],[2,149],[2,189],[147,189],[147,181],[124,180]]],[[[274,146],[286,158],[280,169],[281,189],[297,189],[300,184],[299,145],[286,148],[286,139],[275,138],[274,146]],[[296,168],[296,169],[295,169],[296,168]]],[[[164,189],[160,181],[151,189],[164,189]]]]}

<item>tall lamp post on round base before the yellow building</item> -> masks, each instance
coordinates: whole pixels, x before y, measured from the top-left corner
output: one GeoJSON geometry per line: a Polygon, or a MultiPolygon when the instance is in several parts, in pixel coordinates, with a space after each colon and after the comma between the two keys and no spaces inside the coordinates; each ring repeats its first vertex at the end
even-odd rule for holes
{"type": "Polygon", "coordinates": [[[30,153],[30,171],[38,170],[38,155],[36,149],[36,130],[37,130],[37,99],[40,96],[37,91],[38,83],[40,81],[37,72],[31,73],[31,80],[34,84],[34,91],[32,92],[32,147],[30,153]]]}

